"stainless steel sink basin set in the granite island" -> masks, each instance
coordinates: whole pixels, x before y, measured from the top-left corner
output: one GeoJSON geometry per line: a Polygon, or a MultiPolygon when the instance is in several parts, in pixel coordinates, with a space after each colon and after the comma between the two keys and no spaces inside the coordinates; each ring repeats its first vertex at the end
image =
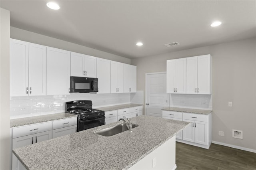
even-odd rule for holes
{"type": "MultiPolygon", "coordinates": [[[[139,125],[132,124],[132,128],[138,127],[139,125]]],[[[128,130],[125,124],[119,124],[114,127],[104,128],[95,133],[100,134],[102,136],[113,136],[115,134],[121,133],[128,130]]]]}

